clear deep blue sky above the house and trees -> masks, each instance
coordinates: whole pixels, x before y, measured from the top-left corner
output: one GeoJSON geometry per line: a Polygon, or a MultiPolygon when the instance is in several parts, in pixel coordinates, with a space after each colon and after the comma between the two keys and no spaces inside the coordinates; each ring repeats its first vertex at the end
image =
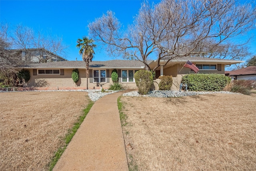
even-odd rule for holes
{"type": "MultiPolygon", "coordinates": [[[[22,23],[34,31],[51,30],[53,35],[62,36],[63,43],[69,46],[67,60],[82,60],[76,48],[76,40],[88,36],[89,22],[112,10],[120,22],[127,26],[132,24],[141,2],[142,0],[0,0],[0,22],[12,25],[22,23]]],[[[159,0],[150,2],[157,3],[159,0]]],[[[256,38],[250,46],[255,55],[256,38]]],[[[96,48],[95,53],[95,61],[114,59],[100,48],[96,48]]]]}

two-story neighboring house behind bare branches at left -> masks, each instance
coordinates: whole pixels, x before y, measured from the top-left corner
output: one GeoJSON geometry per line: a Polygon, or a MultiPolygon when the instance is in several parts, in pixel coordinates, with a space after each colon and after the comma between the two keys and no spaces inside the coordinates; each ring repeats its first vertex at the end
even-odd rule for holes
{"type": "Polygon", "coordinates": [[[67,61],[65,58],[58,56],[57,54],[50,52],[44,48],[32,48],[32,49],[13,49],[8,50],[10,54],[15,54],[20,56],[20,59],[26,62],[57,62],[57,61],[67,61]],[[47,60],[46,60],[47,59],[47,60]]]}

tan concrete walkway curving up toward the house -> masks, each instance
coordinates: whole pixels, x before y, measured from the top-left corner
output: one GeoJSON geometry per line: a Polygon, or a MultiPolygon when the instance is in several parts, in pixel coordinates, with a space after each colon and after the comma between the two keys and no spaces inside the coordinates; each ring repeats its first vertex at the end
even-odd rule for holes
{"type": "Polygon", "coordinates": [[[54,171],[128,171],[117,98],[128,91],[98,99],[54,171]]]}

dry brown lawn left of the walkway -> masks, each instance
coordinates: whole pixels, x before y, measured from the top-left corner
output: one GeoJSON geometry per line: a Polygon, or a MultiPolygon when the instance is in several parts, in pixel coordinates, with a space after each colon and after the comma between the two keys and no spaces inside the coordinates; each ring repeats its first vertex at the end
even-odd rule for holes
{"type": "Polygon", "coordinates": [[[0,93],[0,170],[48,170],[87,97],[78,91],[0,93]]]}

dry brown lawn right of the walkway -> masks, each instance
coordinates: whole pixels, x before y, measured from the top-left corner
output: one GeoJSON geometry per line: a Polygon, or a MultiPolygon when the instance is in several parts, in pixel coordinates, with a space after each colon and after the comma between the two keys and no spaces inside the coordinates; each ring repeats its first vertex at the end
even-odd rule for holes
{"type": "Polygon", "coordinates": [[[138,170],[256,170],[255,96],[123,96],[121,101],[128,116],[127,158],[138,170]]]}

